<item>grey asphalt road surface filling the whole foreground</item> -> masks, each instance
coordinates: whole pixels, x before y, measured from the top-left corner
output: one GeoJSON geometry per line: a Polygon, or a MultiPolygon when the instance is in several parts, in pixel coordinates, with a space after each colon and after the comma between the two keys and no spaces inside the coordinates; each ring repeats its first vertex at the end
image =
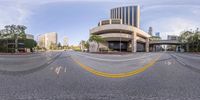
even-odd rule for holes
{"type": "Polygon", "coordinates": [[[0,100],[200,100],[200,56],[0,55],[0,100]]]}

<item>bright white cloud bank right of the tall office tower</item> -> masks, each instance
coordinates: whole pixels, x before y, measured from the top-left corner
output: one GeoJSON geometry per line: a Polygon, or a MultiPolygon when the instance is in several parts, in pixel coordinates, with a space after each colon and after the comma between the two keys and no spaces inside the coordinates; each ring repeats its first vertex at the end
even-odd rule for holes
{"type": "Polygon", "coordinates": [[[184,30],[200,27],[200,7],[197,5],[154,5],[141,9],[142,28],[148,31],[152,26],[154,32],[160,32],[161,37],[179,35],[184,30]]]}

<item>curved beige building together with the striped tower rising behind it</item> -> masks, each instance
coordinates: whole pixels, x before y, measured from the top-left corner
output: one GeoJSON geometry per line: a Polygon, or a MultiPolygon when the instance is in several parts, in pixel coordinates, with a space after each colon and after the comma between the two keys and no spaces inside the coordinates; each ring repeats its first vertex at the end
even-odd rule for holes
{"type": "Polygon", "coordinates": [[[139,6],[113,8],[110,15],[110,19],[100,21],[97,27],[90,30],[90,35],[99,35],[105,40],[99,46],[91,42],[90,52],[100,50],[149,52],[149,37],[151,36],[139,29],[139,6]]]}

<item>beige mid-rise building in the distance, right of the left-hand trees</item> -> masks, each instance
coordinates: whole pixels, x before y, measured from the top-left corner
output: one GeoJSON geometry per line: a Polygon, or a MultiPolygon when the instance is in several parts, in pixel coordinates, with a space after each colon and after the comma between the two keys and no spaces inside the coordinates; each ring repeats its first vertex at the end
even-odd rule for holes
{"type": "Polygon", "coordinates": [[[51,45],[57,45],[57,33],[50,32],[38,36],[38,46],[50,49],[51,45]]]}

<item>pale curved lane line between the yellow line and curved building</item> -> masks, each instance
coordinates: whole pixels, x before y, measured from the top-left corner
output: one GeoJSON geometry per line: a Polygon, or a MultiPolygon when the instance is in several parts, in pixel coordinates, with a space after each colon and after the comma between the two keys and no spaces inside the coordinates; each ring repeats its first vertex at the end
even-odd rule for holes
{"type": "MultiPolygon", "coordinates": [[[[75,54],[75,53],[74,53],[75,54]]],[[[138,59],[143,59],[143,58],[147,58],[149,56],[153,56],[152,54],[149,54],[147,56],[143,55],[142,57],[137,57],[137,58],[132,58],[132,59],[123,59],[123,60],[113,60],[113,59],[102,59],[102,58],[96,58],[96,57],[91,57],[88,55],[82,55],[82,54],[75,54],[75,55],[79,55],[79,56],[83,56],[89,59],[93,59],[93,60],[100,60],[100,61],[106,61],[106,62],[124,62],[124,61],[132,61],[132,60],[138,60],[138,59]]]]}

